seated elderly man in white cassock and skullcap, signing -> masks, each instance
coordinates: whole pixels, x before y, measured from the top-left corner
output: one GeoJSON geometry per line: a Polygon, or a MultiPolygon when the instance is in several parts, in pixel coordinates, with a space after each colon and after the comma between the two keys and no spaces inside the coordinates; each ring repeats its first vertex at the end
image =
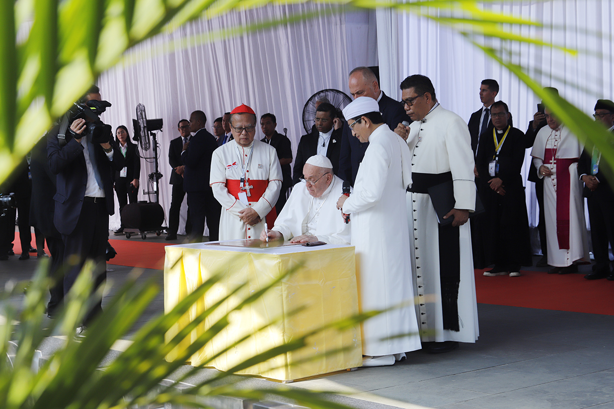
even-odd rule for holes
{"type": "Polygon", "coordinates": [[[336,199],[343,193],[343,181],[333,174],[333,164],[324,155],[310,157],[303,166],[305,179],[292,189],[284,209],[271,230],[260,240],[290,240],[290,243],[325,241],[349,244],[350,224],[346,224],[336,208],[336,199]]]}

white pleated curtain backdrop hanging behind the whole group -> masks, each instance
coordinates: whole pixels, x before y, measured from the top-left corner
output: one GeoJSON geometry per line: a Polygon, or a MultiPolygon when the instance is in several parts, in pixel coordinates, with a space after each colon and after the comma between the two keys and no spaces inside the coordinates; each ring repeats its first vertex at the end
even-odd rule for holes
{"type": "MultiPolygon", "coordinates": [[[[516,62],[528,64],[532,76],[544,86],[558,88],[562,96],[589,114],[596,99],[614,97],[612,2],[523,1],[486,3],[484,7],[554,27],[525,28],[525,35],[587,50],[588,53],[569,55],[535,45],[515,45],[516,62]]],[[[211,127],[223,112],[246,103],[258,115],[275,114],[278,131],[288,128],[295,151],[304,133],[301,112],[309,96],[324,88],[348,93],[348,72],[360,65],[379,64],[381,88],[395,99],[400,98],[398,84],[403,78],[411,74],[429,76],[441,104],[466,120],[480,107],[481,80],[496,79],[500,85],[497,99],[510,107],[514,125],[526,130],[540,102],[538,98],[507,69],[486,58],[453,30],[391,10],[330,14],[331,10],[322,3],[267,6],[214,20],[198,20],[176,33],[157,36],[140,45],[126,59],[129,62],[101,77],[103,98],[113,103],[103,120],[114,128],[123,124],[131,129],[138,103],[146,105],[148,118],[165,121],[163,132],[158,134],[160,171],[165,175],[160,182],[160,203],[165,213],[170,206],[168,146],[177,136],[179,119],[201,109],[211,127]],[[297,11],[315,12],[319,17],[224,41],[183,44],[185,39],[199,34],[281,18],[297,11]]],[[[498,42],[488,45],[500,46],[498,42]]],[[[262,138],[259,131],[257,138],[262,138]]],[[[151,151],[146,154],[151,156],[151,151]]],[[[528,166],[527,158],[525,176],[528,166]]],[[[141,182],[146,185],[153,166],[144,163],[142,168],[141,182]]],[[[530,182],[527,208],[529,222],[534,226],[537,204],[530,182]]],[[[119,216],[111,219],[111,228],[116,227],[119,216]]]]}

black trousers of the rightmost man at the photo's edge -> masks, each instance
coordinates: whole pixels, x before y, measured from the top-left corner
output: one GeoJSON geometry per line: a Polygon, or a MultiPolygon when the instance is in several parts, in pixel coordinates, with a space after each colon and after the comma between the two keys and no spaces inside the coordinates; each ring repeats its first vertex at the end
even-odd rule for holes
{"type": "Polygon", "coordinates": [[[604,197],[589,197],[588,219],[591,222],[591,241],[593,242],[593,254],[599,267],[608,267],[610,254],[608,243],[614,249],[614,199],[604,197]]]}

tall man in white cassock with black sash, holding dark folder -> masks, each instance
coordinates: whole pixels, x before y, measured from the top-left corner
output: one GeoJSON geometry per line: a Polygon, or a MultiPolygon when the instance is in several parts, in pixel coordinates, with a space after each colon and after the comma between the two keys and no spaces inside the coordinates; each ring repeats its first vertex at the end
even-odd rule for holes
{"type": "MultiPolygon", "coordinates": [[[[400,86],[405,112],[414,121],[405,131],[413,183],[406,195],[411,263],[418,292],[416,314],[422,348],[456,349],[478,339],[478,310],[468,215],[475,210],[473,151],[467,123],[437,102],[426,76],[407,77],[400,86]],[[453,181],[454,208],[440,225],[429,187],[453,181]],[[434,300],[429,300],[429,296],[434,300]]],[[[405,128],[400,130],[399,128],[405,128]]]]}

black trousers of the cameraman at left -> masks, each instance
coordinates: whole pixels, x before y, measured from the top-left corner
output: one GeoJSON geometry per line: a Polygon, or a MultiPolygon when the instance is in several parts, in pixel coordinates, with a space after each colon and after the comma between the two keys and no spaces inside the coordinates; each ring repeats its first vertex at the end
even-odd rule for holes
{"type": "MultiPolygon", "coordinates": [[[[92,292],[101,286],[107,278],[106,256],[109,238],[109,212],[104,198],[98,203],[85,200],[75,229],[69,235],[62,235],[64,242],[64,295],[68,294],[77,280],[85,260],[93,260],[96,267],[93,273],[92,292]]],[[[102,300],[98,300],[88,311],[84,324],[103,311],[102,300]]]]}

